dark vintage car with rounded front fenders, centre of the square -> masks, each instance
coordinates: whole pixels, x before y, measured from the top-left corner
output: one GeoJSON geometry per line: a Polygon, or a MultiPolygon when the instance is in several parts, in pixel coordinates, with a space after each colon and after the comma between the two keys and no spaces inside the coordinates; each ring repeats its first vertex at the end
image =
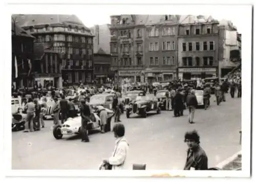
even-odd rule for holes
{"type": "Polygon", "coordinates": [[[137,96],[136,99],[129,104],[129,108],[126,108],[126,117],[130,118],[132,115],[147,116],[147,112],[156,111],[160,114],[160,102],[151,95],[137,96]]]}

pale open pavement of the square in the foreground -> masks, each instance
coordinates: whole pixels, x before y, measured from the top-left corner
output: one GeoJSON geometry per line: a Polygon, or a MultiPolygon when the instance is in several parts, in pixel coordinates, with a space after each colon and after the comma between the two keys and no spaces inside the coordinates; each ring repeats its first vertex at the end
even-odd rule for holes
{"type": "MultiPolygon", "coordinates": [[[[172,111],[147,118],[127,119],[123,114],[131,163],[144,163],[147,169],[183,169],[187,149],[184,133],[191,129],[197,129],[201,136],[209,167],[240,151],[241,98],[227,95],[220,106],[214,99],[212,96],[208,110],[196,110],[195,124],[188,123],[187,110],[179,118],[174,118],[172,111]]],[[[77,136],[56,140],[52,125],[50,120],[39,132],[12,133],[12,169],[97,169],[113,151],[113,133],[94,132],[90,143],[81,143],[77,136]]]]}

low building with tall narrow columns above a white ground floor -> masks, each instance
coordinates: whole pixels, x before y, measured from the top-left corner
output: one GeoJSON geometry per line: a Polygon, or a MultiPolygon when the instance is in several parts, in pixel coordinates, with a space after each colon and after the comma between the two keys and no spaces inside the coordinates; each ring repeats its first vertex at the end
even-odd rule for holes
{"type": "Polygon", "coordinates": [[[35,84],[39,87],[48,86],[61,88],[61,64],[60,55],[55,50],[45,49],[44,43],[36,44],[34,47],[35,60],[35,84]]]}

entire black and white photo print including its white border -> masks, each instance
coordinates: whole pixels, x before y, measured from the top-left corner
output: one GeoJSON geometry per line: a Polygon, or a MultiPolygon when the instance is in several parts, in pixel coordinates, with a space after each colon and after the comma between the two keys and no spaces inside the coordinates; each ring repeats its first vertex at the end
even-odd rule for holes
{"type": "Polygon", "coordinates": [[[8,5],[9,176],[250,176],[252,6],[154,6],[8,5]]]}

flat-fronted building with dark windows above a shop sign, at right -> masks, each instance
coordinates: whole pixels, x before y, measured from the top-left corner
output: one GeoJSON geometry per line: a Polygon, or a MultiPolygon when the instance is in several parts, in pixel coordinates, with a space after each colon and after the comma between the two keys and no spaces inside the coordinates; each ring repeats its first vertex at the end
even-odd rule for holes
{"type": "Polygon", "coordinates": [[[219,22],[188,16],[179,24],[179,78],[190,80],[218,75],[219,22]]]}

